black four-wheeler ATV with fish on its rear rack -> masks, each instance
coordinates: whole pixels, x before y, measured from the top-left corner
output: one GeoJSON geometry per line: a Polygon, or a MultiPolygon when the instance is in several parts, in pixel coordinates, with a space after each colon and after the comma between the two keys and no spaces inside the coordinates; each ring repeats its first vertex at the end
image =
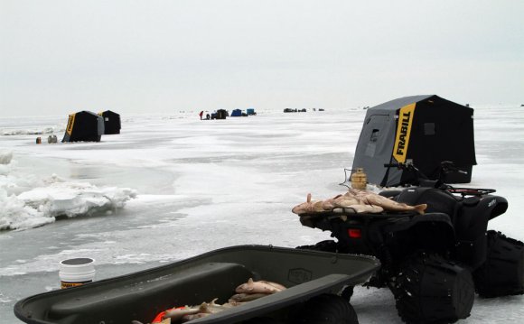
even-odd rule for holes
{"type": "MultiPolygon", "coordinates": [[[[380,195],[415,206],[426,213],[378,214],[332,212],[301,215],[306,227],[331,231],[334,240],[299,248],[374,255],[382,264],[367,282],[388,287],[398,315],[407,323],[454,322],[470,315],[475,292],[481,297],[524,292],[524,245],[487,230],[503,214],[508,201],[495,190],[453,188],[430,181],[412,163],[386,164],[413,171],[416,186],[385,190],[380,195]]],[[[444,162],[440,179],[456,171],[444,162]]],[[[352,287],[343,296],[351,298],[352,287]]]]}

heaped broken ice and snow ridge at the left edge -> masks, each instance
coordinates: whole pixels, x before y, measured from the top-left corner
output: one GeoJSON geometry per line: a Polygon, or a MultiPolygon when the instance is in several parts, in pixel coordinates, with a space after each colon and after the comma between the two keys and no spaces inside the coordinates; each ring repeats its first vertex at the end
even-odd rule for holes
{"type": "Polygon", "coordinates": [[[59,217],[112,214],[136,190],[64,181],[53,174],[40,179],[16,169],[12,152],[0,152],[0,230],[41,227],[59,217]]]}

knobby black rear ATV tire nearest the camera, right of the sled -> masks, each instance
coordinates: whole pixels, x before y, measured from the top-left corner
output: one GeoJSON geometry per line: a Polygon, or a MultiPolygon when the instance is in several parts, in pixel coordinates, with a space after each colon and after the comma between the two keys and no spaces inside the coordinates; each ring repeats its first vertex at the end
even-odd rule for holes
{"type": "Polygon", "coordinates": [[[475,297],[470,271],[439,255],[417,255],[398,273],[392,289],[407,323],[453,323],[470,316],[475,297]]]}

